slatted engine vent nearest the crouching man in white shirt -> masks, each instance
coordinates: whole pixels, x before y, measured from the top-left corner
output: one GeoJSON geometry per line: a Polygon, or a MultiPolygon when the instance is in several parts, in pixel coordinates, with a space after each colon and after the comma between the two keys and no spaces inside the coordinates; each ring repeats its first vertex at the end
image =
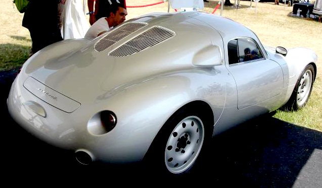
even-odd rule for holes
{"type": "Polygon", "coordinates": [[[108,35],[106,35],[104,38],[102,38],[100,41],[98,41],[94,49],[96,51],[103,51],[106,48],[113,45],[115,42],[121,40],[122,38],[126,37],[127,35],[133,33],[134,31],[143,28],[144,26],[148,25],[147,23],[143,22],[129,22],[121,27],[113,30],[108,35]]]}

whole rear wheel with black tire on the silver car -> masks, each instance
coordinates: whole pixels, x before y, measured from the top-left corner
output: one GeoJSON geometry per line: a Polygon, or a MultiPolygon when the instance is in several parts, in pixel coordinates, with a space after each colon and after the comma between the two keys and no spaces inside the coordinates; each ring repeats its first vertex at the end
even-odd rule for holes
{"type": "Polygon", "coordinates": [[[147,170],[171,176],[187,174],[209,144],[212,130],[212,114],[197,106],[178,110],[154,139],[145,157],[147,170]]]}

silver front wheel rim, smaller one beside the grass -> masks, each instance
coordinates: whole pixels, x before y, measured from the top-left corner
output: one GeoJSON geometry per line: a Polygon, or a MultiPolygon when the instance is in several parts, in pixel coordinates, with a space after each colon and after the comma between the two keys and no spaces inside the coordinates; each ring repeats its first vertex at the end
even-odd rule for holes
{"type": "Polygon", "coordinates": [[[305,71],[303,74],[299,87],[297,89],[296,103],[298,106],[302,106],[310,93],[312,85],[312,72],[310,70],[305,71]]]}

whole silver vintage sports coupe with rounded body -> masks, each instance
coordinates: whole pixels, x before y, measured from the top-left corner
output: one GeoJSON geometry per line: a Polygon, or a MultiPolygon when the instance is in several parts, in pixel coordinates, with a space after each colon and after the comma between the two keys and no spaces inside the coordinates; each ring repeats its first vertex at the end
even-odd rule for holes
{"type": "Polygon", "coordinates": [[[264,46],[218,15],[151,13],[93,40],[43,48],[23,65],[7,104],[24,129],[82,164],[141,161],[175,175],[217,134],[304,107],[316,61],[310,49],[264,46]]]}

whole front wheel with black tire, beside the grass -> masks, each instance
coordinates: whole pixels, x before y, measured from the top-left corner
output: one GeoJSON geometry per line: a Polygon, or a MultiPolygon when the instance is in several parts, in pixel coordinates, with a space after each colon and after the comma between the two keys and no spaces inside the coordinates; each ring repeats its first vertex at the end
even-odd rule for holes
{"type": "Polygon", "coordinates": [[[293,93],[286,104],[288,110],[303,108],[312,92],[315,72],[312,65],[307,65],[298,78],[293,93]]]}

